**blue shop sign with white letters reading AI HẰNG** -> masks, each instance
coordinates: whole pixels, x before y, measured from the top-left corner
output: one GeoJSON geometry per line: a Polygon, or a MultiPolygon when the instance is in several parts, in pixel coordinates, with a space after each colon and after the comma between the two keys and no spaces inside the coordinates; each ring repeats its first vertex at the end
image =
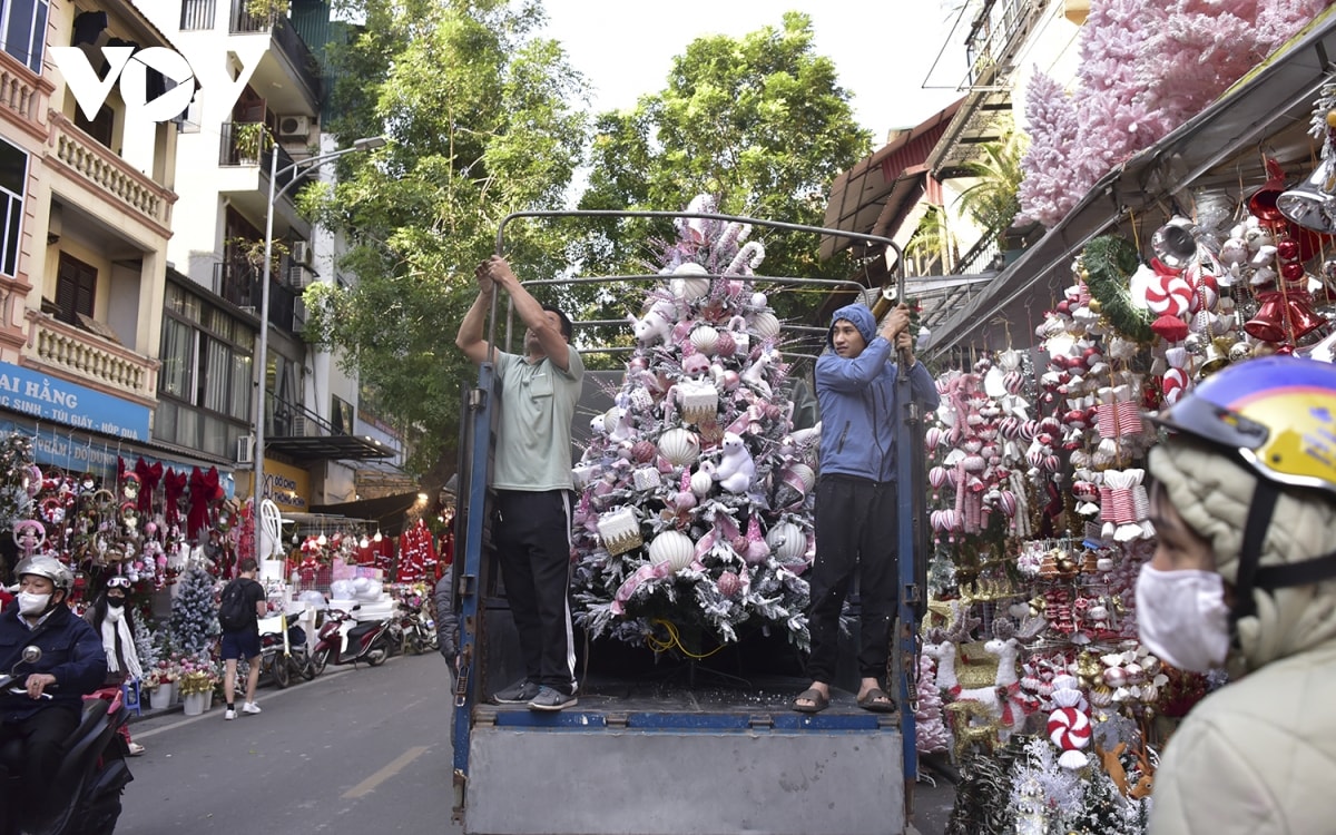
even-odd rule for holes
{"type": "Polygon", "coordinates": [[[148,406],[0,362],[0,406],[132,441],[148,440],[148,406]]]}

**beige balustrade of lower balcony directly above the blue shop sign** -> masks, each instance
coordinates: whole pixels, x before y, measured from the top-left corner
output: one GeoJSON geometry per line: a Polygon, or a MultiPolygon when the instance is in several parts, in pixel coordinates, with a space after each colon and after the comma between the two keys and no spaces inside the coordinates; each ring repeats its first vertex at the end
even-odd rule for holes
{"type": "Polygon", "coordinates": [[[27,311],[27,317],[28,343],[43,365],[103,391],[150,406],[156,402],[156,359],[36,310],[27,311]]]}

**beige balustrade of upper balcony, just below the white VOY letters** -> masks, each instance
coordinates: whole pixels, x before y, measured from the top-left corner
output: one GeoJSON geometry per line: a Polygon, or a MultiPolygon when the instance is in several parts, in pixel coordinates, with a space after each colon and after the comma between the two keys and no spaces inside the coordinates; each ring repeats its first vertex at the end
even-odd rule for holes
{"type": "Polygon", "coordinates": [[[67,172],[84,182],[90,190],[107,198],[111,203],[127,208],[139,220],[156,227],[163,235],[170,235],[171,204],[176,194],[135,170],[87,134],[80,131],[63,115],[51,114],[51,144],[55,152],[47,158],[60,163],[67,172]]]}

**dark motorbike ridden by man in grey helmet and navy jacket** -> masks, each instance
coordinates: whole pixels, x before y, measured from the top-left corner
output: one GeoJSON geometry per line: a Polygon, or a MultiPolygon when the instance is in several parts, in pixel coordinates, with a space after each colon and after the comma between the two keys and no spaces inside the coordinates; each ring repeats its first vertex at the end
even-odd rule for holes
{"type": "MultiPolygon", "coordinates": [[[[25,647],[19,664],[0,675],[0,689],[24,692],[27,672],[20,668],[36,664],[41,649],[25,647]]],[[[48,696],[49,697],[49,696],[48,696]]],[[[120,818],[120,792],[134,776],[126,766],[126,741],[116,732],[126,721],[120,693],[112,700],[84,701],[83,720],[69,736],[65,759],[52,780],[47,806],[20,819],[24,835],[111,835],[120,818]]],[[[23,770],[20,747],[0,751],[0,795],[19,798],[19,774],[23,770]]],[[[19,814],[19,810],[11,810],[19,814]]]]}

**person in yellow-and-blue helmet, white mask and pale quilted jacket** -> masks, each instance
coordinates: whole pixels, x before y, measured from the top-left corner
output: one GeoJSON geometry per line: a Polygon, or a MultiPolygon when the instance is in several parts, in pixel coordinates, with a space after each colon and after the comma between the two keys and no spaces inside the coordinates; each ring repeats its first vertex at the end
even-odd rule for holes
{"type": "Polygon", "coordinates": [[[1230,366],[1157,422],[1141,640],[1232,683],[1168,741],[1150,832],[1333,832],[1336,366],[1230,366]]]}

